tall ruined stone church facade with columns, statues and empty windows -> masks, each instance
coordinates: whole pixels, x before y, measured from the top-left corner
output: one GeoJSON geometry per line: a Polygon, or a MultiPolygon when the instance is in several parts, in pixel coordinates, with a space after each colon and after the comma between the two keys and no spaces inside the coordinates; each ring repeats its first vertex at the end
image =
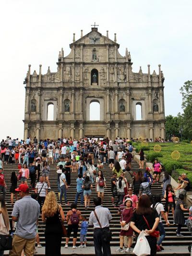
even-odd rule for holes
{"type": "Polygon", "coordinates": [[[130,52],[121,56],[120,45],[101,35],[96,27],[70,44],[64,57],[61,49],[57,72],[46,74],[29,69],[24,80],[24,138],[56,139],[84,136],[165,138],[164,76],[160,69],[132,72],[130,52]],[[100,104],[100,121],[90,121],[90,103],[100,104]],[[48,107],[54,108],[48,121],[48,107]],[[136,120],[140,106],[141,120],[136,120]]]}

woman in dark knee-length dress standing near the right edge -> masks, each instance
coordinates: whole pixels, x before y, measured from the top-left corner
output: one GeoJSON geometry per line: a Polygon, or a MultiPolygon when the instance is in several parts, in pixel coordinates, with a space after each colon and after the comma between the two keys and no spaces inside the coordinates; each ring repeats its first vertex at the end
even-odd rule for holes
{"type": "Polygon", "coordinates": [[[183,207],[183,199],[184,199],[184,195],[180,194],[179,195],[179,199],[176,203],[176,207],[175,207],[175,212],[174,212],[174,223],[178,224],[177,227],[177,236],[181,237],[183,236],[180,231],[183,225],[185,225],[185,217],[184,217],[184,211],[189,211],[189,208],[184,208],[183,207]]]}

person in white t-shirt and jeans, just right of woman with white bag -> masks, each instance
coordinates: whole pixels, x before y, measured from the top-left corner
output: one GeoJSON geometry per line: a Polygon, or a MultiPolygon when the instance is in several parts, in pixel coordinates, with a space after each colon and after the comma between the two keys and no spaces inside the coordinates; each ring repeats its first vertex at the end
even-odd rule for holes
{"type": "Polygon", "coordinates": [[[159,215],[159,224],[158,224],[157,228],[158,228],[158,231],[160,232],[160,238],[157,241],[156,248],[157,248],[157,252],[160,252],[161,250],[164,250],[164,248],[161,245],[161,243],[165,239],[165,235],[166,235],[161,217],[163,217],[163,219],[165,219],[166,225],[169,226],[168,219],[167,219],[167,217],[165,215],[165,212],[164,212],[164,207],[161,204],[161,195],[155,195],[155,197],[154,197],[154,204],[151,207],[156,209],[156,211],[157,211],[157,213],[159,215]]]}

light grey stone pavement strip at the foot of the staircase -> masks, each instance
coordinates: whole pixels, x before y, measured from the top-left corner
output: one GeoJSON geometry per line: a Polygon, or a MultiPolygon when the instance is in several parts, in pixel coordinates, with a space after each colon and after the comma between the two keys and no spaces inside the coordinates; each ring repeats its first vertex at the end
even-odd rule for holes
{"type": "MultiPolygon", "coordinates": [[[[158,252],[158,255],[161,256],[176,256],[176,255],[180,255],[180,256],[190,256],[190,253],[188,251],[188,246],[164,246],[164,251],[162,252],[158,252]]],[[[115,250],[118,247],[114,247],[111,246],[111,254],[115,255],[115,256],[119,256],[119,255],[133,255],[133,253],[116,253],[115,250]]],[[[133,248],[132,248],[133,250],[133,248]]],[[[45,247],[42,248],[38,248],[37,249],[37,254],[36,256],[43,256],[45,255],[45,247]]],[[[6,251],[4,253],[4,255],[8,255],[8,251],[6,251]]],[[[67,249],[64,249],[64,247],[61,247],[61,255],[63,256],[95,256],[95,248],[93,246],[88,246],[86,248],[76,248],[76,249],[72,249],[72,247],[69,247],[67,249]]]]}

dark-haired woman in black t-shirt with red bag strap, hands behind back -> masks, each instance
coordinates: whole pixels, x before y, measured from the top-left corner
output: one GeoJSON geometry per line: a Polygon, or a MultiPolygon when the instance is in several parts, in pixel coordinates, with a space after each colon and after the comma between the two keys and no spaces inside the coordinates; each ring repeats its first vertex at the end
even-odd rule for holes
{"type": "Polygon", "coordinates": [[[153,233],[156,231],[158,224],[159,215],[156,209],[151,208],[149,197],[142,195],[138,207],[133,213],[130,226],[137,233],[136,240],[142,230],[149,234],[145,237],[151,248],[151,256],[156,255],[156,237],[153,236],[153,233]]]}

